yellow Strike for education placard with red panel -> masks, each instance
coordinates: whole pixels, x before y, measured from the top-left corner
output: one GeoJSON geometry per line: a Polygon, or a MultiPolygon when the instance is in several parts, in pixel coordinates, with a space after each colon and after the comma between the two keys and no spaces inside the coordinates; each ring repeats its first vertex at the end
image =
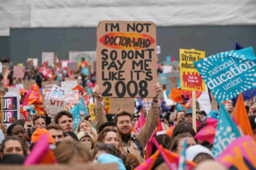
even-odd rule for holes
{"type": "Polygon", "coordinates": [[[181,89],[205,91],[205,83],[193,62],[205,58],[205,52],[180,49],[181,89]]]}

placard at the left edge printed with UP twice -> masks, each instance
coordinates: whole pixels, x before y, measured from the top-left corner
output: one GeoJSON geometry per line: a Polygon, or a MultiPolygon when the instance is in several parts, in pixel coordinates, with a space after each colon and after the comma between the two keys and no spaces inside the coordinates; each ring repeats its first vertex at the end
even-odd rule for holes
{"type": "Polygon", "coordinates": [[[19,94],[6,92],[3,96],[3,124],[9,126],[15,120],[19,120],[19,94]]]}

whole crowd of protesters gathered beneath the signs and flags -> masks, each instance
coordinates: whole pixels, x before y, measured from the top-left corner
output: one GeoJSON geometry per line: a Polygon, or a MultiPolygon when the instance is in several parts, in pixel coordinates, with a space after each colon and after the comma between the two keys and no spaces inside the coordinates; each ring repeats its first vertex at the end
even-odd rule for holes
{"type": "MultiPolygon", "coordinates": [[[[16,86],[16,84],[28,80],[35,80],[38,86],[42,87],[42,82],[44,81],[62,81],[69,76],[66,70],[61,70],[61,74],[59,74],[55,73],[52,67],[48,67],[48,69],[55,74],[52,79],[44,78],[39,73],[38,67],[24,70],[24,78],[15,79],[13,78],[13,67],[11,67],[7,75],[10,81],[8,85],[16,86]]],[[[161,70],[159,69],[158,73],[160,72],[161,70]]],[[[164,111],[162,107],[164,100],[159,97],[162,87],[159,83],[156,83],[155,91],[157,95],[152,99],[148,113],[143,105],[139,105],[134,113],[121,110],[117,114],[110,113],[112,116],[107,116],[103,109],[104,100],[102,101],[100,97],[101,90],[95,84],[95,73],[86,76],[81,73],[81,67],[79,67],[77,71],[71,74],[75,79],[80,80],[80,86],[93,93],[96,104],[94,109],[96,125],[92,124],[90,116],[82,116],[82,121],[74,129],[73,116],[68,111],[58,112],[52,121],[47,121],[47,117],[42,115],[32,116],[27,113],[28,121],[25,121],[24,117],[20,116],[20,119],[14,121],[9,127],[1,126],[0,165],[23,164],[27,158],[30,158],[29,155],[32,153],[33,148],[39,147],[36,143],[40,141],[44,134],[48,137],[49,148],[53,151],[57,163],[117,163],[118,169],[135,169],[145,161],[148,140],[158,126],[160,117],[163,130],[166,130],[166,132],[154,137],[159,145],[177,155],[181,155],[183,142],[186,141],[188,146],[185,151],[186,159],[197,163],[196,169],[226,169],[224,165],[214,161],[212,143],[194,138],[207,125],[205,123],[207,117],[217,117],[218,111],[210,111],[209,114],[205,114],[205,112],[197,110],[196,115],[201,122],[201,126],[195,131],[192,128],[191,112],[186,110],[176,112],[175,106],[168,106],[170,108],[164,111]],[[93,86],[90,86],[92,84],[93,86]],[[141,114],[143,114],[146,122],[138,133],[134,133],[133,128],[136,122],[139,121],[141,114]]],[[[0,79],[1,85],[3,85],[3,74],[0,79]]],[[[248,102],[250,105],[248,116],[254,139],[256,140],[255,99],[250,99],[248,102]]],[[[231,116],[234,109],[232,102],[228,101],[225,104],[225,108],[231,116]]],[[[150,155],[155,154],[156,151],[158,151],[158,148],[152,144],[150,155]]],[[[152,169],[168,169],[162,155],[158,156],[152,169]]]]}

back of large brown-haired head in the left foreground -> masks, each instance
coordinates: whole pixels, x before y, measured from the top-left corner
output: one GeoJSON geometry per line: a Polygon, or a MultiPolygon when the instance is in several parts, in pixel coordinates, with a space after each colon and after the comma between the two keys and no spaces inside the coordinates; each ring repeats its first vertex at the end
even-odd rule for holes
{"type": "Polygon", "coordinates": [[[61,164],[81,164],[92,161],[89,151],[79,141],[63,141],[53,150],[61,164]]]}

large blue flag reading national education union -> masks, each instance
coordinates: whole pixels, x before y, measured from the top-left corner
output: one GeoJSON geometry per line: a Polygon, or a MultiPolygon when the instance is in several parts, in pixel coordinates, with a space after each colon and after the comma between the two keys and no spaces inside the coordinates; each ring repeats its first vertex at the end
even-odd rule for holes
{"type": "Polygon", "coordinates": [[[256,88],[256,57],[252,47],[222,52],[195,62],[218,103],[256,88]]]}

